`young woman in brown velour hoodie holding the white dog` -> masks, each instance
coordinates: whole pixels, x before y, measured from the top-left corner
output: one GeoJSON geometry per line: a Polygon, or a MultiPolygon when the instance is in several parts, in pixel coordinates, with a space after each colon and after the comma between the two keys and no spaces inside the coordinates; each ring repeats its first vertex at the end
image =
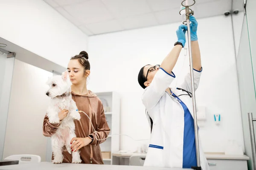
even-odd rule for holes
{"type": "MultiPolygon", "coordinates": [[[[72,82],[72,99],[76,102],[78,110],[84,111],[90,117],[93,127],[98,132],[97,136],[95,136],[88,117],[84,113],[80,113],[80,121],[74,120],[77,138],[73,138],[70,141],[72,143],[72,152],[80,151],[81,163],[104,164],[99,144],[105,140],[96,140],[96,137],[97,139],[105,139],[110,133],[110,128],[106,122],[102,102],[96,94],[87,90],[87,77],[90,75],[90,63],[87,52],[81,51],[79,55],[72,57],[68,63],[67,71],[72,82]]],[[[60,121],[67,116],[67,113],[67,110],[62,110],[58,113],[60,121]]],[[[45,116],[43,125],[44,136],[50,137],[55,134],[60,124],[49,123],[48,117],[45,116]]],[[[63,150],[63,156],[64,163],[72,162],[72,155],[67,152],[66,148],[63,150]]]]}

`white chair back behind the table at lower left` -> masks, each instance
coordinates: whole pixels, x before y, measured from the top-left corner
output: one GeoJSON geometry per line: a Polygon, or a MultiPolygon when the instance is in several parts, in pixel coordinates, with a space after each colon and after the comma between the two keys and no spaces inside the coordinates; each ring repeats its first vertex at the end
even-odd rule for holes
{"type": "Polygon", "coordinates": [[[18,160],[19,164],[41,162],[41,157],[38,155],[11,155],[5,158],[6,160],[18,160]]]}

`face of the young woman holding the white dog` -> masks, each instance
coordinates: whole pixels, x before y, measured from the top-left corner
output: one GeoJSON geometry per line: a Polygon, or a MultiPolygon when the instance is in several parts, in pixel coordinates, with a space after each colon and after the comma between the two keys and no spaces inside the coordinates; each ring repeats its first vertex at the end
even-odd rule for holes
{"type": "Polygon", "coordinates": [[[78,59],[71,59],[67,65],[67,72],[72,84],[86,82],[86,77],[90,74],[90,70],[84,72],[84,67],[79,63],[78,59]]]}

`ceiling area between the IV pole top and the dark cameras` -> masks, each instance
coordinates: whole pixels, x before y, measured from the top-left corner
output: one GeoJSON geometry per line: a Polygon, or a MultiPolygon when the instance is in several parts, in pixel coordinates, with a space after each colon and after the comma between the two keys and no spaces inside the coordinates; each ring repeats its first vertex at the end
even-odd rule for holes
{"type": "Polygon", "coordinates": [[[224,14],[231,10],[232,0],[216,0],[207,3],[196,4],[195,17],[203,18],[224,14]],[[210,7],[210,8],[209,8],[210,7]]]}

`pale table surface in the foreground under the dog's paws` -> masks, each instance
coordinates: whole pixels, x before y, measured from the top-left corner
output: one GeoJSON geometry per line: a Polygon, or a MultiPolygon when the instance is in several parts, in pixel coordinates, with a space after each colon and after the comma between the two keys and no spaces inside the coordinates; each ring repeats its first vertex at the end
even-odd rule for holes
{"type": "Polygon", "coordinates": [[[51,162],[0,166],[0,170],[192,170],[182,168],[142,167],[98,164],[52,164],[51,162]]]}

